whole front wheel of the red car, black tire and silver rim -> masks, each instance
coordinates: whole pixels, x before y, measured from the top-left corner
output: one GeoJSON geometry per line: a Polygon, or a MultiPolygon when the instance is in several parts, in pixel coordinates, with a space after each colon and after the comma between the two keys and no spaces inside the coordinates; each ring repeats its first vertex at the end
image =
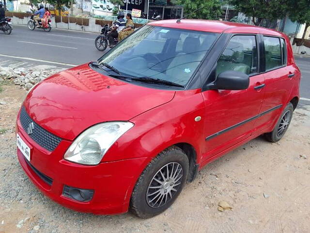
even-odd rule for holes
{"type": "Polygon", "coordinates": [[[183,150],[172,146],[160,152],[146,166],[132,192],[129,209],[141,218],[168,209],[187,180],[189,162],[183,150]]]}

